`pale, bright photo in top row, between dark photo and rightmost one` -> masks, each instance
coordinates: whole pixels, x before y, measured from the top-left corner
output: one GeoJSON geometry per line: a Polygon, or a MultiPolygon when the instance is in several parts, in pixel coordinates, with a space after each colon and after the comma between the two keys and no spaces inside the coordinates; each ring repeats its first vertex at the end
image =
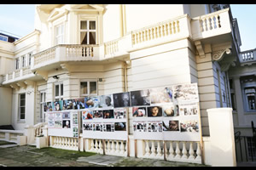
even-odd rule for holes
{"type": "Polygon", "coordinates": [[[151,88],[151,104],[165,104],[172,102],[172,88],[151,88]]]}

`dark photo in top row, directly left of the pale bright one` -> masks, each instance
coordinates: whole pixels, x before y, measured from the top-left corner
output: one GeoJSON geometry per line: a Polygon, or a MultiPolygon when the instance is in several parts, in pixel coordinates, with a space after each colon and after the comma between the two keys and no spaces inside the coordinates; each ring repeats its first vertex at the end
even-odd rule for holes
{"type": "Polygon", "coordinates": [[[131,91],[131,106],[150,105],[150,91],[137,90],[131,91]]]}

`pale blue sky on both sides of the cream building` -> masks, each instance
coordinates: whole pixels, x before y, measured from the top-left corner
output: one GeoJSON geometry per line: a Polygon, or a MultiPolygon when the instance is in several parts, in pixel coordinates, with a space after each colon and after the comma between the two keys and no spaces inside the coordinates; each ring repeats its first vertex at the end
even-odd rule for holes
{"type": "MultiPolygon", "coordinates": [[[[0,4],[0,8],[1,32],[25,37],[34,30],[34,4],[0,4]]],[[[230,8],[238,21],[241,51],[256,48],[256,4],[230,4],[230,8]]]]}

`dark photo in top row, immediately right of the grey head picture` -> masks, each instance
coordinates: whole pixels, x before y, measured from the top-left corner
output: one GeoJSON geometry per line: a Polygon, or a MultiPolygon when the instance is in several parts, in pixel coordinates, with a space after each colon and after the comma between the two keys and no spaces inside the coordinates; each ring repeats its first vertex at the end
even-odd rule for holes
{"type": "Polygon", "coordinates": [[[113,107],[130,107],[130,92],[113,94],[113,107]]]}

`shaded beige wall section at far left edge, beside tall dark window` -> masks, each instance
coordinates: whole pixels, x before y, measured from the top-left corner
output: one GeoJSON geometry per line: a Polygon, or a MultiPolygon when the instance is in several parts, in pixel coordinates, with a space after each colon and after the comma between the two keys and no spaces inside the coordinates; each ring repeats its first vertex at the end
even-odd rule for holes
{"type": "Polygon", "coordinates": [[[12,88],[0,87],[0,96],[0,125],[11,125],[12,88]],[[2,96],[4,96],[4,98],[2,96]]]}

